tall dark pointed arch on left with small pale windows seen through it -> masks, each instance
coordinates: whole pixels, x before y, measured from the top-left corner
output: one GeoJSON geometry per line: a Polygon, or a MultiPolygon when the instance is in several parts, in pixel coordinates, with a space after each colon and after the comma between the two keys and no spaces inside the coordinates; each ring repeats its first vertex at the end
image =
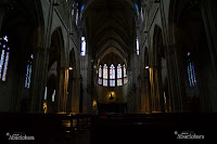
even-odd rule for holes
{"type": "Polygon", "coordinates": [[[47,86],[44,88],[44,95],[48,95],[47,100],[44,100],[47,103],[48,113],[62,112],[62,109],[64,109],[63,105],[66,102],[66,97],[64,97],[65,68],[62,67],[63,48],[64,44],[62,39],[62,30],[61,28],[56,28],[56,30],[54,30],[51,35],[48,78],[47,86]],[[52,108],[49,109],[49,107],[52,108]]]}

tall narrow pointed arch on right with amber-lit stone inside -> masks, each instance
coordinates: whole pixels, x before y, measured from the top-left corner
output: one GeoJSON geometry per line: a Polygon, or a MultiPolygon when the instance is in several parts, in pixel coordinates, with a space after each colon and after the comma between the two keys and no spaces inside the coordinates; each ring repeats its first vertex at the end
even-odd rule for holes
{"type": "Polygon", "coordinates": [[[162,29],[158,26],[154,28],[153,36],[153,60],[151,67],[151,95],[152,95],[152,110],[165,112],[166,93],[163,83],[167,77],[166,54],[163,43],[162,29]]]}

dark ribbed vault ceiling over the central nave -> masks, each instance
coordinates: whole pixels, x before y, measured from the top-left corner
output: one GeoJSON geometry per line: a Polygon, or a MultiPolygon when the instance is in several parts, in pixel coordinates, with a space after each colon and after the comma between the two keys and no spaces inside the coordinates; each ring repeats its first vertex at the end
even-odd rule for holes
{"type": "Polygon", "coordinates": [[[89,52],[98,57],[110,47],[128,57],[136,38],[136,9],[131,0],[90,0],[82,15],[89,52]]]}

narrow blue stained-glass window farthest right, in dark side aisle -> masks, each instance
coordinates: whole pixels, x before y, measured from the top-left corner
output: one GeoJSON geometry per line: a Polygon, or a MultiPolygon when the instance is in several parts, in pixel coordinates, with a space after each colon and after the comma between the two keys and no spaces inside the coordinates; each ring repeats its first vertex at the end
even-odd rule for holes
{"type": "Polygon", "coordinates": [[[190,87],[196,86],[196,77],[195,77],[195,70],[194,70],[194,64],[191,61],[191,53],[188,52],[188,76],[189,76],[189,84],[190,87]]]}

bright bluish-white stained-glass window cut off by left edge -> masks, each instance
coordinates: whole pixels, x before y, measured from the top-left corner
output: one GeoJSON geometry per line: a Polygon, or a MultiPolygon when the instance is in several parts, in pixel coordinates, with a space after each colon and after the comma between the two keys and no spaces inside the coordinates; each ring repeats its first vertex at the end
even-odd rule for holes
{"type": "Polygon", "coordinates": [[[8,36],[0,38],[0,79],[2,81],[7,81],[7,71],[8,71],[8,64],[9,64],[9,52],[10,48],[8,47],[8,36]]]}

